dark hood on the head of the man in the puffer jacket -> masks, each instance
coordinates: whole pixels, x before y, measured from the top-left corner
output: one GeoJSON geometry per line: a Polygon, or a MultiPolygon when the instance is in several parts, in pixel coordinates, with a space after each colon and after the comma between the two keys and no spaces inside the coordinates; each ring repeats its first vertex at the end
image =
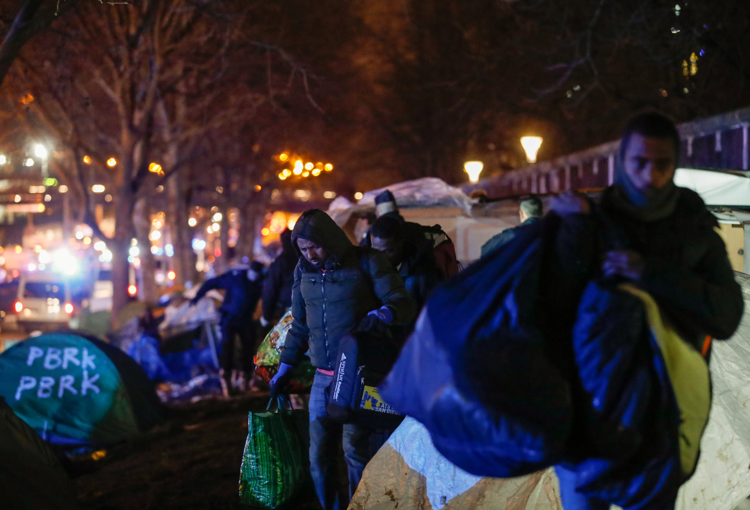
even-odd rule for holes
{"type": "Polygon", "coordinates": [[[302,256],[302,251],[299,251],[297,239],[300,238],[314,242],[328,252],[326,269],[334,269],[340,265],[354,249],[354,245],[341,226],[338,226],[328,214],[320,209],[309,209],[303,212],[292,231],[292,245],[299,258],[300,266],[305,271],[317,272],[318,269],[308,263],[308,260],[302,256]]]}

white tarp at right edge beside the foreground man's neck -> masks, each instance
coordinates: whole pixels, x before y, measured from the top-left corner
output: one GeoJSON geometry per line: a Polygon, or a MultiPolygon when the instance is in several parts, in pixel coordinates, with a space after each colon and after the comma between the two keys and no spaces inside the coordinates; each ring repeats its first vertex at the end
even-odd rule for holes
{"type": "Polygon", "coordinates": [[[742,175],[678,168],[674,184],[695,191],[706,205],[750,206],[750,178],[742,175]]]}

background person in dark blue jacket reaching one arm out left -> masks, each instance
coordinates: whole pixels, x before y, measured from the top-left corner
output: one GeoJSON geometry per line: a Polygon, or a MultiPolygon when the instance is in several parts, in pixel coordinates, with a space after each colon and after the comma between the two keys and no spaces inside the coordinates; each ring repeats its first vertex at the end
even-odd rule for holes
{"type": "Polygon", "coordinates": [[[233,383],[239,389],[245,389],[254,370],[255,354],[255,321],[253,314],[258,306],[263,291],[263,264],[252,263],[251,266],[239,263],[234,248],[227,248],[229,271],[223,275],[206,280],[190,301],[195,305],[209,290],[223,290],[224,300],[219,308],[221,314],[221,369],[220,378],[225,396],[233,383]],[[235,366],[235,342],[239,337],[242,360],[239,368],[235,366]]]}

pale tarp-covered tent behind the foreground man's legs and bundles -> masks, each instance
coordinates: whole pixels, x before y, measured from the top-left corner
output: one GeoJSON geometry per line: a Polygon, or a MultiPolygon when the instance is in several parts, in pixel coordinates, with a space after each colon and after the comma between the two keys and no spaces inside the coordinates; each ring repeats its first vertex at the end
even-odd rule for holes
{"type": "MultiPolygon", "coordinates": [[[[735,272],[750,310],[750,275],[735,272]]],[[[750,314],[728,341],[713,343],[713,401],[694,475],[676,510],[732,510],[750,495],[750,314]]],[[[518,478],[481,478],[434,448],[407,418],[368,463],[350,510],[562,510],[553,469],[518,478]]]]}

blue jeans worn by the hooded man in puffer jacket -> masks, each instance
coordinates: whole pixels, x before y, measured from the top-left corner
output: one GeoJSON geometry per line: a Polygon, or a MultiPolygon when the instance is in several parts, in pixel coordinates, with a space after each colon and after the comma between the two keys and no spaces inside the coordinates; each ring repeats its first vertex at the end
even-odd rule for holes
{"type": "Polygon", "coordinates": [[[357,490],[362,471],[388,440],[392,431],[376,431],[359,425],[341,425],[326,413],[328,392],[333,376],[315,372],[310,390],[310,474],[320,505],[325,510],[344,510],[357,490]],[[349,493],[339,490],[336,461],[344,446],[344,460],[349,474],[349,493]]]}

